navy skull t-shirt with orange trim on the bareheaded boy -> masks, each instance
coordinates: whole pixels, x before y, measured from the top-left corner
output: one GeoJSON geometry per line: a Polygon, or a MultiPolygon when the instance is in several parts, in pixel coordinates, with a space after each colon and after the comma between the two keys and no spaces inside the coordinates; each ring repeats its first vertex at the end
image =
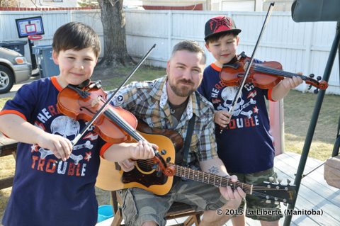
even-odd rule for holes
{"type": "MultiPolygon", "coordinates": [[[[1,114],[15,113],[29,123],[69,140],[85,126],[57,110],[62,90],[56,77],[22,86],[1,114]]],[[[94,184],[99,151],[105,142],[89,131],[74,145],[67,162],[57,162],[50,150],[18,143],[16,174],[2,224],[13,225],[96,225],[98,203],[94,184]],[[56,164],[55,164],[56,163],[56,164]]]]}

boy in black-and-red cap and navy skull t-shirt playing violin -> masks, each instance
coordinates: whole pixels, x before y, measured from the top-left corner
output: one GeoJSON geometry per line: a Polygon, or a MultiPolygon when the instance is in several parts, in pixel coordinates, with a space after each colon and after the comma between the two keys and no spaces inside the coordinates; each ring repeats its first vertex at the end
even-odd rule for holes
{"type": "MultiPolygon", "coordinates": [[[[220,73],[224,64],[237,65],[237,62],[244,59],[243,55],[236,53],[240,32],[232,18],[227,16],[216,16],[205,23],[205,47],[215,57],[215,62],[205,68],[198,91],[215,108],[217,154],[225,163],[227,171],[229,174],[237,175],[239,181],[256,184],[268,181],[269,177],[276,179],[276,173],[273,171],[275,155],[273,137],[265,98],[279,101],[290,89],[301,84],[302,79],[286,78],[271,89],[260,89],[252,83],[246,83],[230,115],[228,112],[232,108],[232,101],[239,87],[227,86],[228,81],[222,81],[220,73]]],[[[261,63],[259,60],[254,62],[261,63]]],[[[233,67],[225,67],[225,69],[229,69],[230,73],[234,70],[236,73],[233,67]]],[[[279,207],[255,196],[246,196],[248,209],[279,207]]],[[[234,225],[245,225],[244,213],[244,210],[240,210],[239,215],[232,219],[234,225]]],[[[278,220],[282,216],[249,215],[247,217],[261,220],[261,225],[278,225],[278,220]]]]}

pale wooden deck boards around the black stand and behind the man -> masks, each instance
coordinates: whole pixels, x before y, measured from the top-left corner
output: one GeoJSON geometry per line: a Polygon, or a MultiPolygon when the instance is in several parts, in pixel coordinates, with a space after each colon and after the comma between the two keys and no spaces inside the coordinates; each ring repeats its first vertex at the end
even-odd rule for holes
{"type": "MultiPolygon", "coordinates": [[[[280,154],[275,159],[275,168],[278,177],[283,179],[290,179],[294,182],[297,171],[297,166],[300,162],[300,154],[285,152],[280,154]]],[[[316,166],[322,164],[317,159],[308,158],[305,166],[305,174],[308,174],[316,166]]],[[[282,205],[282,210],[285,210],[282,205]]],[[[329,186],[324,181],[324,166],[308,174],[300,186],[300,191],[297,196],[295,210],[322,210],[322,215],[293,215],[290,225],[340,225],[340,190],[329,186]]],[[[283,212],[284,213],[284,212],[283,212]]],[[[186,218],[179,218],[176,220],[169,220],[166,225],[174,225],[177,222],[183,222],[186,218]]],[[[97,226],[109,226],[111,220],[106,220],[97,224],[97,226]]],[[[280,220],[280,225],[283,225],[284,218],[280,220]]],[[[246,224],[251,226],[261,225],[259,221],[246,218],[246,224]]],[[[232,222],[227,222],[226,226],[232,225],[232,222]]]]}

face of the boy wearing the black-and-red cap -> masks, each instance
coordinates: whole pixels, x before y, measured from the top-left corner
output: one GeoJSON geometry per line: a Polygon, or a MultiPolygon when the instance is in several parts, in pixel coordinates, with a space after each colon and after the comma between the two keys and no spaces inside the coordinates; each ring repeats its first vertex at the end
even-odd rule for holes
{"type": "Polygon", "coordinates": [[[205,47],[215,57],[217,66],[222,67],[223,64],[229,63],[234,58],[238,44],[239,36],[228,34],[210,42],[208,45],[205,44],[205,47]]]}

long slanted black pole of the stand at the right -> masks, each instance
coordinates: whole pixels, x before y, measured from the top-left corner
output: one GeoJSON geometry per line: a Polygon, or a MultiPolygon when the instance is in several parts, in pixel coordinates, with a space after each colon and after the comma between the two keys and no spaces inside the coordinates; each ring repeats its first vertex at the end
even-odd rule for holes
{"type": "MultiPolygon", "coordinates": [[[[326,68],[324,69],[324,76],[322,77],[322,80],[327,81],[327,82],[331,74],[331,68],[333,67],[334,59],[336,56],[336,50],[338,50],[338,48],[339,48],[339,53],[340,53],[339,40],[340,40],[340,21],[336,23],[335,38],[334,38],[333,44],[331,45],[331,51],[329,52],[329,57],[328,57],[328,61],[326,64],[326,68]]],[[[305,169],[305,164],[307,161],[308,153],[310,152],[310,145],[312,143],[315,127],[317,125],[317,118],[319,117],[320,109],[322,106],[322,101],[324,100],[324,94],[325,94],[325,90],[319,90],[319,94],[317,95],[317,101],[315,103],[314,111],[312,114],[312,119],[310,120],[310,127],[307,130],[305,145],[303,146],[303,149],[302,149],[301,159],[300,159],[299,166],[297,168],[297,173],[296,173],[296,177],[294,181],[296,185],[297,194],[299,192],[300,183],[301,183],[301,179],[303,176],[303,171],[305,169]]],[[[293,210],[295,207],[295,203],[296,203],[296,198],[295,200],[293,200],[293,204],[288,205],[288,209],[293,210]]],[[[290,225],[291,220],[292,220],[292,215],[287,215],[285,217],[285,222],[283,223],[283,225],[284,226],[290,225]]]]}

